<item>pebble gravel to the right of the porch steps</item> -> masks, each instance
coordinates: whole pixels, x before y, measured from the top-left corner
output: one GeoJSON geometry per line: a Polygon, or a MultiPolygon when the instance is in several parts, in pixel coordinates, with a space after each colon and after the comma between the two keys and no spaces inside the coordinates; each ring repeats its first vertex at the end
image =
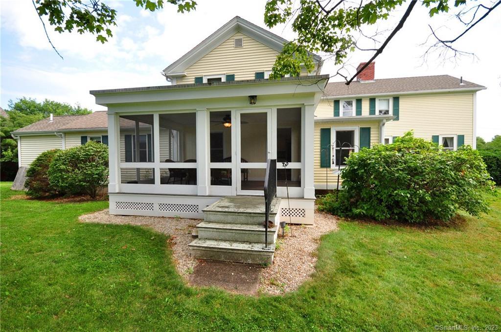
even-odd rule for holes
{"type": "Polygon", "coordinates": [[[267,293],[294,291],[308,280],[315,271],[320,237],[338,229],[335,216],[318,211],[315,212],[315,225],[292,227],[293,236],[279,236],[273,264],[261,274],[261,287],[267,293]]]}

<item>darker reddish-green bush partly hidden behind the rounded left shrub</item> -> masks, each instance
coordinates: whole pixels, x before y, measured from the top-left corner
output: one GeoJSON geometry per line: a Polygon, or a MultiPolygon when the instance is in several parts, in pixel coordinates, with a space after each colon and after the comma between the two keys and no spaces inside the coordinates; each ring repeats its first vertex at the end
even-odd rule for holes
{"type": "Polygon", "coordinates": [[[39,198],[43,196],[54,196],[60,194],[58,190],[49,183],[47,172],[49,165],[61,150],[54,149],[42,152],[30,165],[26,171],[25,187],[26,194],[31,197],[39,198]]]}

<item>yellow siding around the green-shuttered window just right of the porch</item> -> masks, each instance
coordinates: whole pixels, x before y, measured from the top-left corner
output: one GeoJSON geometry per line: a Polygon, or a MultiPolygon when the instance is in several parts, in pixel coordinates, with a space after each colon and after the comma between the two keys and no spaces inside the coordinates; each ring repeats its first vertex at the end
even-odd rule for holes
{"type": "MultiPolygon", "coordinates": [[[[320,167],[320,129],[332,127],[371,127],[371,146],[379,144],[379,121],[352,121],[352,122],[317,122],[314,133],[314,180],[317,189],[322,189],[322,184],[326,182],[326,168],[320,167]]],[[[335,185],[338,176],[334,174],[334,169],[327,168],[327,182],[335,185]]]]}

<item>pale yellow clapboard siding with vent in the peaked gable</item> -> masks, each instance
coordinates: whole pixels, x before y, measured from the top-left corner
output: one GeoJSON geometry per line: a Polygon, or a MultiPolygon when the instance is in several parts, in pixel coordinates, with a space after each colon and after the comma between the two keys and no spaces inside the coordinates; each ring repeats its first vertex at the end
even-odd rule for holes
{"type": "Polygon", "coordinates": [[[221,45],[188,67],[186,77],[177,84],[194,83],[194,78],[203,75],[235,74],[235,80],[254,80],[256,72],[272,70],[279,53],[260,42],[236,33],[221,45]],[[235,48],[233,40],[243,39],[243,47],[235,48]]]}

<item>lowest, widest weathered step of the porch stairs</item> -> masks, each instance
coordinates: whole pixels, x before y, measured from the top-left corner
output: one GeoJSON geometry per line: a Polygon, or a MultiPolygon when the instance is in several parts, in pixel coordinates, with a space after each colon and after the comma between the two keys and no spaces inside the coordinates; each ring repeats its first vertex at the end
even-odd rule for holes
{"type": "Polygon", "coordinates": [[[189,245],[195,258],[223,260],[250,264],[271,264],[275,244],[265,248],[263,243],[196,239],[189,245]]]}

